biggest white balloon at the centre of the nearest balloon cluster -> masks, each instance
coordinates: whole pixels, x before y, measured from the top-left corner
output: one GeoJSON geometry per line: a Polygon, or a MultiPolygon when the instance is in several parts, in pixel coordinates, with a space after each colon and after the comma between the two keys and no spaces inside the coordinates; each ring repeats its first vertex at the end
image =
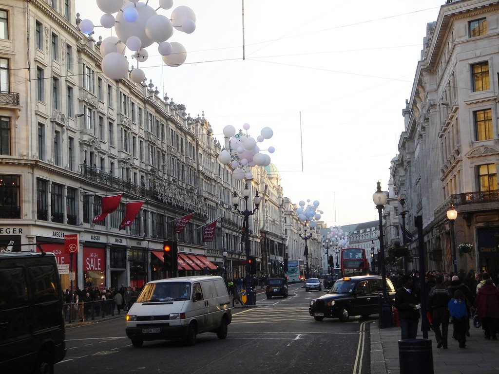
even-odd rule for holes
{"type": "Polygon", "coordinates": [[[123,6],[123,11],[129,7],[133,7],[137,10],[137,20],[132,23],[126,22],[123,18],[123,12],[119,12],[116,15],[116,24],[114,26],[116,35],[120,40],[127,40],[130,36],[137,36],[142,41],[142,48],[147,48],[154,41],[147,36],[145,26],[147,20],[153,15],[156,15],[156,11],[144,2],[137,2],[136,4],[129,2],[127,5],[123,6]]]}

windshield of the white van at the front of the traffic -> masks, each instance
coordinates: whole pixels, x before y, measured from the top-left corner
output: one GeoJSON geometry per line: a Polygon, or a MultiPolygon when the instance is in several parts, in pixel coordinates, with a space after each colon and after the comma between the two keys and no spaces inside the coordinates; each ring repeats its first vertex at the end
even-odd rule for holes
{"type": "Polygon", "coordinates": [[[191,283],[164,282],[146,284],[140,293],[138,303],[154,303],[158,301],[181,301],[191,299],[191,283]]]}

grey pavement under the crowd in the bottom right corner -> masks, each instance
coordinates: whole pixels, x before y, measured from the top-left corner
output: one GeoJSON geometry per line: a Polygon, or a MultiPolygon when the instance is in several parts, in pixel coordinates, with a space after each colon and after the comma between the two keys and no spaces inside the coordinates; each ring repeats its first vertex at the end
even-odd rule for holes
{"type": "MultiPolygon", "coordinates": [[[[486,340],[482,328],[470,328],[466,338],[466,348],[459,348],[457,340],[452,338],[453,326],[449,325],[448,347],[437,348],[435,333],[428,332],[431,340],[431,352],[425,342],[422,350],[409,353],[402,346],[404,371],[400,370],[399,339],[400,327],[379,328],[378,322],[371,325],[371,374],[498,374],[499,340],[486,340]],[[433,361],[433,365],[432,365],[433,361]],[[409,362],[409,363],[408,363],[409,362]],[[433,371],[431,368],[433,366],[433,371]],[[411,368],[412,370],[408,370],[411,368]]],[[[423,339],[418,329],[417,339],[423,339]]],[[[420,345],[417,344],[417,349],[420,345]]]]}

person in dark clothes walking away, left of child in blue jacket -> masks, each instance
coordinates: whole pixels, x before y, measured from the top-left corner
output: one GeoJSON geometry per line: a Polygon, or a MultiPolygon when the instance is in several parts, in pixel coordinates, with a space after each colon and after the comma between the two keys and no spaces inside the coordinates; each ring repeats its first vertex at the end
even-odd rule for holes
{"type": "Polygon", "coordinates": [[[449,331],[449,310],[451,300],[449,290],[444,287],[444,276],[438,275],[437,284],[428,293],[428,310],[432,315],[432,329],[435,332],[437,348],[447,349],[447,335],[449,331]],[[442,325],[442,330],[440,326],[442,325]]]}

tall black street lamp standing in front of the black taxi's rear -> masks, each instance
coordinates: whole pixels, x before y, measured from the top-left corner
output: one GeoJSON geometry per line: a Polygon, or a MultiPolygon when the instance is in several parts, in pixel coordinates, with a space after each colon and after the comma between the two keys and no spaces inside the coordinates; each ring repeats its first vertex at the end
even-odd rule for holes
{"type": "Polygon", "coordinates": [[[391,307],[388,304],[388,292],[386,289],[386,269],[385,269],[385,246],[383,243],[383,208],[386,204],[386,193],[381,190],[381,183],[378,181],[376,192],[373,193],[373,201],[379,214],[379,252],[378,257],[381,262],[381,278],[383,296],[379,304],[379,327],[381,329],[393,326],[391,307]]]}

